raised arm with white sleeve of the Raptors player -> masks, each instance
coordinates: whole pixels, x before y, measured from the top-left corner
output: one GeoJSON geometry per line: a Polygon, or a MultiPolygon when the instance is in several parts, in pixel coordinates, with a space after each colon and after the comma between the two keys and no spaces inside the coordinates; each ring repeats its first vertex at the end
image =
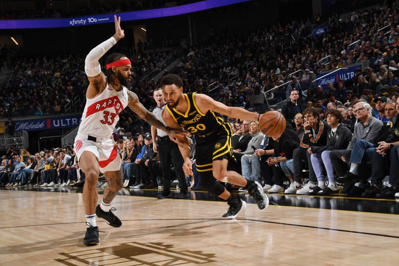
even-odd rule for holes
{"type": "Polygon", "coordinates": [[[84,61],[85,63],[84,70],[90,82],[86,92],[86,97],[89,99],[94,98],[101,91],[103,91],[107,82],[104,73],[101,72],[99,59],[109,49],[111,49],[111,47],[114,46],[118,40],[120,40],[125,36],[125,33],[120,26],[121,17],[117,19],[115,15],[114,18],[115,18],[115,34],[111,38],[107,39],[106,41],[94,47],[86,56],[86,59],[84,61]]]}

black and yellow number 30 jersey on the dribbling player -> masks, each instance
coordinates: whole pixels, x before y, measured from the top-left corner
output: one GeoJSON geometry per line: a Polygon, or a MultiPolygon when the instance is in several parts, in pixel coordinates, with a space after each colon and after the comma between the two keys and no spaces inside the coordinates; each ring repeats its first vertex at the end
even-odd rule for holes
{"type": "Polygon", "coordinates": [[[196,138],[212,138],[222,134],[232,135],[232,130],[229,123],[225,123],[219,113],[208,110],[203,114],[196,104],[194,93],[184,93],[188,102],[188,108],[185,114],[182,114],[175,108],[170,108],[168,105],[166,109],[171,114],[172,118],[185,130],[191,132],[196,138]]]}

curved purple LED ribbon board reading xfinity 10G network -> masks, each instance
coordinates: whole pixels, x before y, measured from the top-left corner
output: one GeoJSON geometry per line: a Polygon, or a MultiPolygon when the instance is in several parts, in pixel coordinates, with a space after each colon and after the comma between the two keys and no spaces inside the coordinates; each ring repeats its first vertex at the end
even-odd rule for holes
{"type": "MultiPolygon", "coordinates": [[[[187,14],[247,1],[249,0],[205,0],[174,7],[116,13],[116,15],[120,16],[122,21],[148,19],[187,14]]],[[[52,19],[14,19],[0,20],[0,29],[74,27],[111,22],[114,22],[114,14],[52,19]]]]}

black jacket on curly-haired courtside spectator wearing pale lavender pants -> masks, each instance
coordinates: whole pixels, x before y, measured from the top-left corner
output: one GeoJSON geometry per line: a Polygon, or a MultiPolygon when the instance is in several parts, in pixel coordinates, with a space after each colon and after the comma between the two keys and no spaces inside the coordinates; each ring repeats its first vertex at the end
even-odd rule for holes
{"type": "Polygon", "coordinates": [[[352,132],[348,125],[340,123],[335,134],[332,134],[331,127],[327,131],[326,146],[312,146],[312,153],[332,151],[332,150],[345,150],[352,139],[352,132]]]}

